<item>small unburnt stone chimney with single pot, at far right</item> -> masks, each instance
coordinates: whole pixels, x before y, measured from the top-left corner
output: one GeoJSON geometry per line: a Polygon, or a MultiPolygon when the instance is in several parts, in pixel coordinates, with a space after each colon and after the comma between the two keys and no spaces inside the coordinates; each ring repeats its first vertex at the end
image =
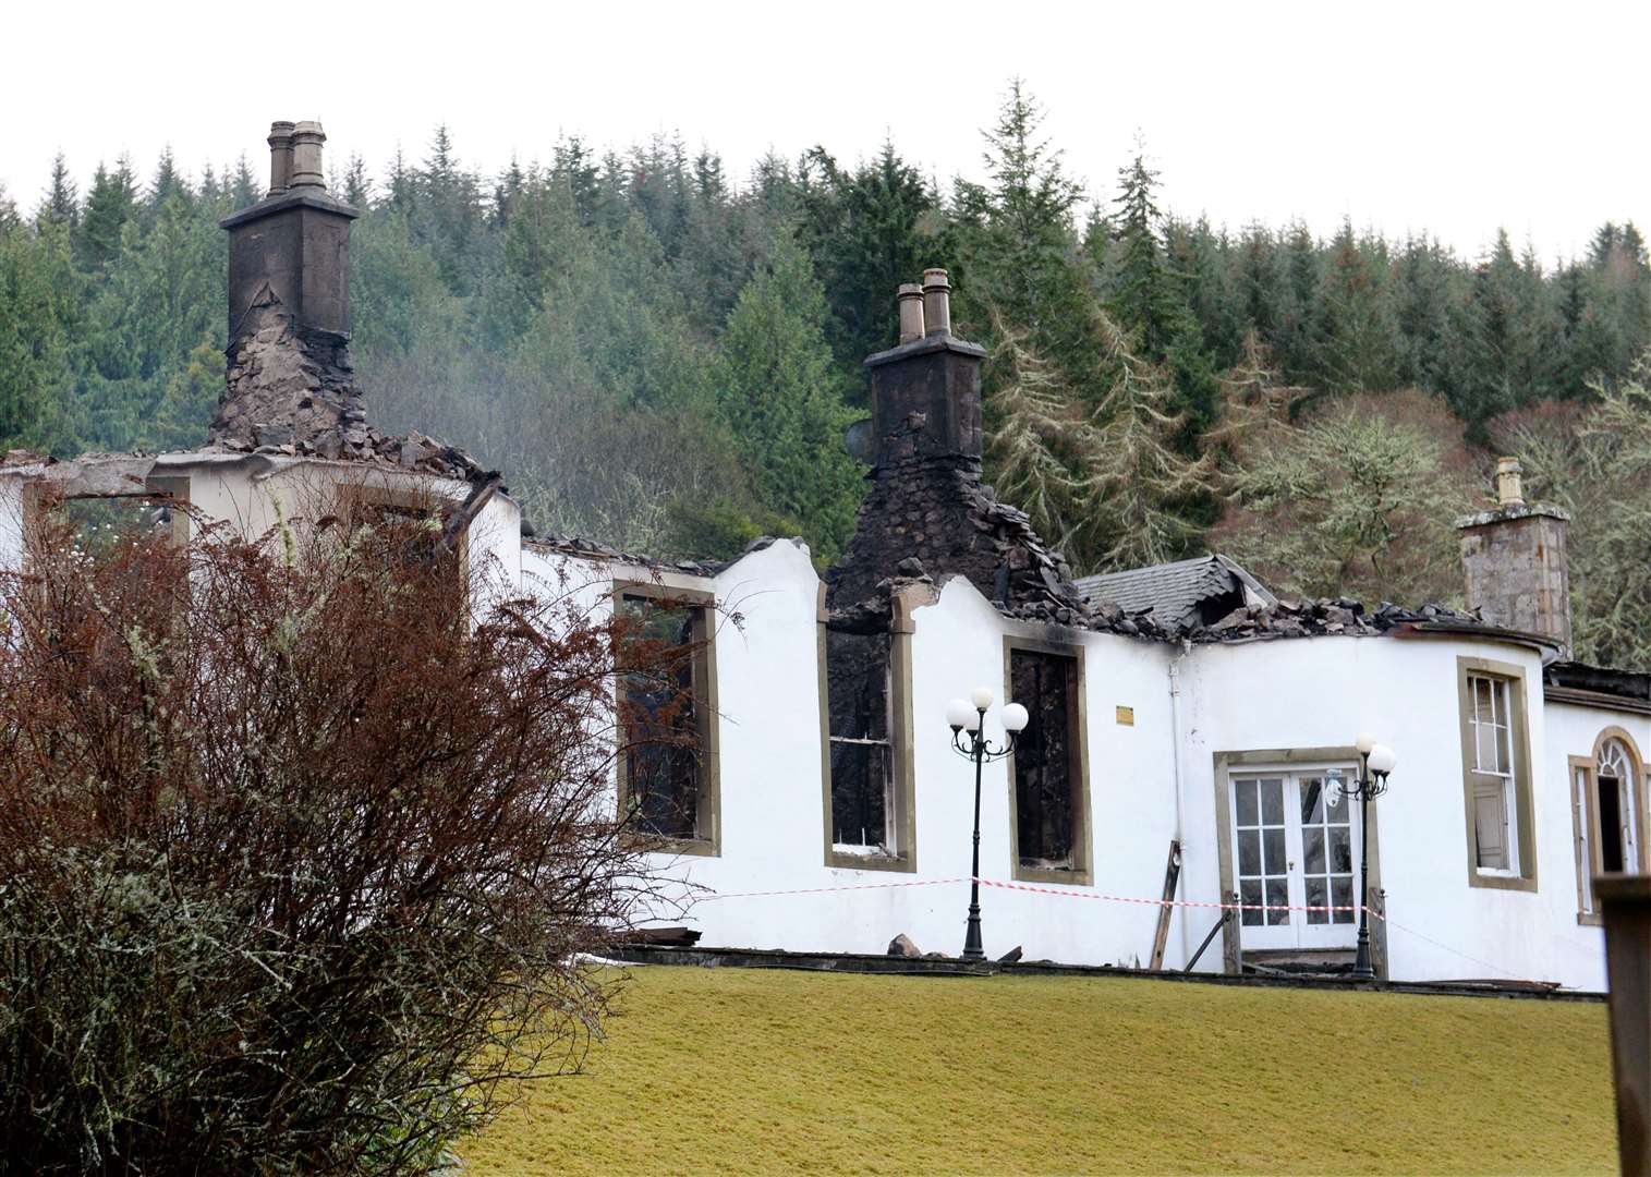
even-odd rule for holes
{"type": "Polygon", "coordinates": [[[1486,624],[1542,634],[1570,657],[1570,513],[1527,503],[1519,459],[1496,462],[1496,507],[1456,520],[1468,607],[1486,624]]]}

